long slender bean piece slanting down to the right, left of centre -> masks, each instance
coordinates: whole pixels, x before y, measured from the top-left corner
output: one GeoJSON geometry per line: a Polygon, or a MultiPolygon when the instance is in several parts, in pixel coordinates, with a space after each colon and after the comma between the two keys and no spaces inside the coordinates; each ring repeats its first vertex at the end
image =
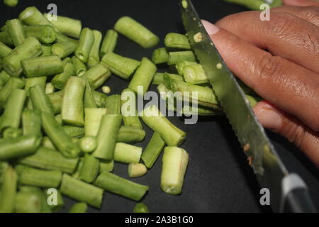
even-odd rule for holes
{"type": "Polygon", "coordinates": [[[73,143],[62,126],[55,121],[54,116],[50,113],[42,112],[41,117],[45,133],[62,155],[65,157],[77,157],[80,153],[79,147],[73,143]]]}

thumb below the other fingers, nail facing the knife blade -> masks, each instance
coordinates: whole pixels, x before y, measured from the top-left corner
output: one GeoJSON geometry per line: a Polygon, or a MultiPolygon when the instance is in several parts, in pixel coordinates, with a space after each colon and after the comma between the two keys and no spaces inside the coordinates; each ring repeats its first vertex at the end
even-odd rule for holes
{"type": "Polygon", "coordinates": [[[254,107],[254,113],[262,126],[286,137],[319,167],[319,133],[265,101],[254,107]]]}

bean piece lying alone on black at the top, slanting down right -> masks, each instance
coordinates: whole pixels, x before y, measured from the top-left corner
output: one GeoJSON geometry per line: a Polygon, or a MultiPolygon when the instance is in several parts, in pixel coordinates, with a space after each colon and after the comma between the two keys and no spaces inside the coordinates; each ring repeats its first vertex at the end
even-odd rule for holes
{"type": "Polygon", "coordinates": [[[128,16],[119,18],[114,26],[114,30],[138,43],[143,48],[152,48],[159,43],[157,35],[128,16]]]}

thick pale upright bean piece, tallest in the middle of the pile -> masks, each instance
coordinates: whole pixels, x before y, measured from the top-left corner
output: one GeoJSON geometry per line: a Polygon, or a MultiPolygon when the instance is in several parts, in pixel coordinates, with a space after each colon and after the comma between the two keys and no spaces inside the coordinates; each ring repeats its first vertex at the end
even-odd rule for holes
{"type": "Polygon", "coordinates": [[[85,80],[79,77],[70,77],[65,84],[61,110],[64,123],[84,126],[84,90],[85,80]]]}

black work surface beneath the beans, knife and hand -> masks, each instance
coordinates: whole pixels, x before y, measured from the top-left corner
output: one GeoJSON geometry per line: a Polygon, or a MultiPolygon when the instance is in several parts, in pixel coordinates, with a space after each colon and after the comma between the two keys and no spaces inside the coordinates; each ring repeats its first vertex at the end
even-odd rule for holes
{"type": "MultiPolygon", "coordinates": [[[[164,35],[169,32],[183,33],[179,5],[173,0],[118,0],[118,1],[74,1],[74,0],[21,0],[16,8],[9,8],[0,3],[0,24],[9,18],[17,18],[26,6],[37,6],[46,11],[50,3],[57,4],[58,13],[62,16],[79,18],[83,26],[98,29],[105,33],[120,16],[128,15],[140,21],[161,38],[158,46],[164,45],[164,35]]],[[[226,4],[220,0],[194,1],[201,16],[208,21],[216,22],[230,13],[244,11],[242,6],[226,4]]],[[[152,56],[152,50],[144,50],[137,44],[120,36],[115,52],[140,60],[141,57],[152,56]]],[[[118,94],[128,82],[113,76],[106,83],[113,94],[118,94]]],[[[155,90],[155,87],[152,87],[155,90]]],[[[223,117],[200,118],[196,125],[184,125],[180,118],[170,120],[187,133],[186,142],[181,145],[189,152],[189,168],[186,172],[184,189],[180,196],[165,194],[159,188],[161,162],[145,177],[135,179],[136,182],[150,185],[150,192],[144,199],[145,204],[153,212],[269,212],[269,207],[259,205],[259,186],[247,165],[239,143],[231,130],[228,120],[223,117]]],[[[145,126],[147,137],[141,145],[145,148],[152,132],[145,126]]],[[[318,170],[279,135],[269,133],[276,150],[284,160],[289,171],[296,172],[305,180],[310,195],[319,208],[319,174],[318,170]]],[[[127,166],[117,164],[115,173],[128,177],[127,166]]],[[[74,202],[66,199],[67,208],[74,202]]],[[[131,212],[134,201],[106,193],[103,199],[103,212],[131,212]]],[[[89,208],[90,212],[99,210],[89,208]]]]}

